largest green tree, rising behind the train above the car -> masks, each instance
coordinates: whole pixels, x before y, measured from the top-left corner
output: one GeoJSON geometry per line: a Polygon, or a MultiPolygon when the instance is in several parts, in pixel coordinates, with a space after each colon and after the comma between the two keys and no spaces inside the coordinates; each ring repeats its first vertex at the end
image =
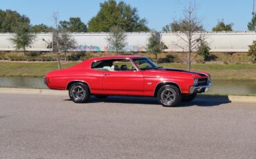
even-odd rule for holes
{"type": "Polygon", "coordinates": [[[137,8],[116,0],[100,3],[100,11],[88,23],[89,32],[109,32],[112,26],[120,26],[125,32],[149,31],[147,20],[140,19],[137,8]]]}

